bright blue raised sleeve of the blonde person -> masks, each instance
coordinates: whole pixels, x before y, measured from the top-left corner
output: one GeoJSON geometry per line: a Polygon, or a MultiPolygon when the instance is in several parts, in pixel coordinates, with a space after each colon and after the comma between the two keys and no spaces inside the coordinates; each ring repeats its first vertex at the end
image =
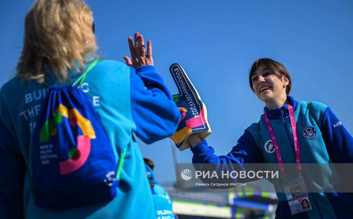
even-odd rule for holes
{"type": "Polygon", "coordinates": [[[130,68],[131,112],[136,136],[146,144],[174,134],[180,112],[155,67],[130,68]]]}

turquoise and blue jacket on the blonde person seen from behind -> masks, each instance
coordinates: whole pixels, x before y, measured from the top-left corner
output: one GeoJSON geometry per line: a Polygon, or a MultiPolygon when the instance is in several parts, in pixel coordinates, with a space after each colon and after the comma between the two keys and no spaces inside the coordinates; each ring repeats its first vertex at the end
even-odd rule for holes
{"type": "MultiPolygon", "coordinates": [[[[47,82],[57,83],[46,69],[47,82]]],[[[70,71],[73,82],[79,74],[70,71]]],[[[36,116],[47,87],[16,76],[0,91],[0,218],[150,218],[157,217],[144,161],[133,139],[150,144],[171,136],[180,113],[163,79],[153,66],[137,68],[103,60],[81,86],[94,106],[118,161],[126,148],[118,196],[110,202],[49,211],[34,205],[27,168],[36,116]]],[[[29,168],[30,169],[30,168],[29,168]]],[[[63,188],[64,189],[64,188],[63,188]]],[[[87,191],[87,195],[95,191],[87,191]]],[[[82,197],[84,198],[84,197],[82,197]]]]}

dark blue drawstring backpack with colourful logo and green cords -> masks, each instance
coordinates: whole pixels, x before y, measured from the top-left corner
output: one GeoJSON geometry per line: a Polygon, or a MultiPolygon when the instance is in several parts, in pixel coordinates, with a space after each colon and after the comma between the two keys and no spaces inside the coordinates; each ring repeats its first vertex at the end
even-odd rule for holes
{"type": "Polygon", "coordinates": [[[116,164],[97,113],[79,88],[99,61],[72,85],[50,86],[41,106],[32,138],[32,177],[29,174],[38,207],[61,210],[117,195],[126,149],[116,164]]]}

